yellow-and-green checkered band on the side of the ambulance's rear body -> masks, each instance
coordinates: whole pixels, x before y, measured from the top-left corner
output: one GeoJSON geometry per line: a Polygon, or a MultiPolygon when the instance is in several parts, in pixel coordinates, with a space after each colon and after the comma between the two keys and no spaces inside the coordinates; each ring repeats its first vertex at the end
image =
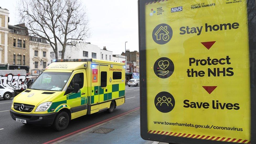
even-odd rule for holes
{"type": "MultiPolygon", "coordinates": [[[[106,89],[106,88],[105,88],[106,89]]],[[[100,86],[91,88],[91,96],[88,97],[88,104],[99,103],[125,96],[125,83],[108,85],[107,91],[100,86]],[[98,91],[98,93],[96,93],[98,91]]]]}

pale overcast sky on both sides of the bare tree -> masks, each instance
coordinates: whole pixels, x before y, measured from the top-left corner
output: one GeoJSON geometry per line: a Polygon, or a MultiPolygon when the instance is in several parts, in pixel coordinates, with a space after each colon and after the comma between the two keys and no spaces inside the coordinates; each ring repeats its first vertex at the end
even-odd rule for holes
{"type": "MultiPolygon", "coordinates": [[[[10,25],[18,24],[16,0],[1,3],[9,10],[10,25]]],[[[106,46],[113,54],[121,54],[126,49],[138,51],[138,6],[137,0],[84,0],[90,20],[91,37],[87,42],[106,46]]]]}

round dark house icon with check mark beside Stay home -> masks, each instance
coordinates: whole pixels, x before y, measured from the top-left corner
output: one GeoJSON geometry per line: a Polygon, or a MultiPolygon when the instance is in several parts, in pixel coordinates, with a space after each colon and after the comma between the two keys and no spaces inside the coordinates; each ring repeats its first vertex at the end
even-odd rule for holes
{"type": "Polygon", "coordinates": [[[172,28],[168,24],[159,24],[154,28],[152,38],[157,44],[163,45],[172,39],[172,35],[172,28]]]}

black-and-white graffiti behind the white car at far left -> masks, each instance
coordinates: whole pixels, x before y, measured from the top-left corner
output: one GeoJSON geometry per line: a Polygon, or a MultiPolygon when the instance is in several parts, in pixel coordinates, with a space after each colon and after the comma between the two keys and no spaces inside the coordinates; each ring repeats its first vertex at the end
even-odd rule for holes
{"type": "Polygon", "coordinates": [[[0,76],[0,84],[13,90],[27,89],[26,76],[20,76],[20,74],[15,76],[13,74],[0,76]]]}

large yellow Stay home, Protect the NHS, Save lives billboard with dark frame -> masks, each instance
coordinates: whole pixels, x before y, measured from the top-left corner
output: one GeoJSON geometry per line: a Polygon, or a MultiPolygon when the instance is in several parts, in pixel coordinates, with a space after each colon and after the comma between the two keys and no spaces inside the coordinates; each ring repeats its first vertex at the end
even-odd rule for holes
{"type": "Polygon", "coordinates": [[[252,142],[250,9],[255,1],[139,1],[142,138],[252,142]]]}

